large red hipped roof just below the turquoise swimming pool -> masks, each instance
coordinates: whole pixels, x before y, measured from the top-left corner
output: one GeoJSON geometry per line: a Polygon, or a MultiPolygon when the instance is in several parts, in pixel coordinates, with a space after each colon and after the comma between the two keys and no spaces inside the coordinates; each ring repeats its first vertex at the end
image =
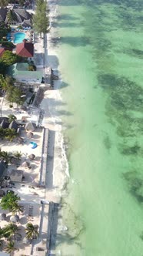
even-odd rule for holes
{"type": "Polygon", "coordinates": [[[34,45],[32,42],[21,42],[16,45],[16,54],[18,56],[31,58],[34,55],[34,45]]]}

